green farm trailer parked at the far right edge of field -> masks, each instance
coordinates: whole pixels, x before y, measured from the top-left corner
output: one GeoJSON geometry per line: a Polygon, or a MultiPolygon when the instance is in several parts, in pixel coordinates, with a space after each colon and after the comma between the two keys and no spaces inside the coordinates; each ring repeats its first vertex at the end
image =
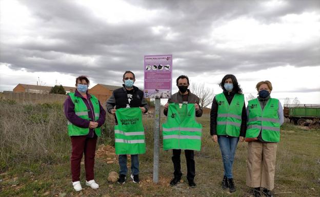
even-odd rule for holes
{"type": "Polygon", "coordinates": [[[320,104],[285,104],[284,116],[303,125],[307,120],[320,119],[320,104]]]}

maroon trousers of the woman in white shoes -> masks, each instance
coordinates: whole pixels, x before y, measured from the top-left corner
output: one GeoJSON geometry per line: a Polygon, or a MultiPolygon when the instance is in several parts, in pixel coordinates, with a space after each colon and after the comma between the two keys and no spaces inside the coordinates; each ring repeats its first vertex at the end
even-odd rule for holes
{"type": "Polygon", "coordinates": [[[85,154],[86,180],[94,179],[94,156],[97,138],[87,138],[86,136],[71,137],[71,174],[72,182],[80,181],[80,166],[82,156],[85,154]]]}

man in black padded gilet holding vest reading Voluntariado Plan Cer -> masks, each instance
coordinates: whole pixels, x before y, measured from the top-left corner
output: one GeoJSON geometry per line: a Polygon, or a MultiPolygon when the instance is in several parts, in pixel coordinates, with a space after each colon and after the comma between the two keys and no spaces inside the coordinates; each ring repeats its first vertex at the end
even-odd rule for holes
{"type": "Polygon", "coordinates": [[[139,183],[138,154],[144,154],[145,152],[144,130],[141,121],[142,113],[148,111],[148,103],[144,99],[143,91],[133,85],[135,82],[133,72],[126,71],[123,75],[123,82],[123,87],[112,92],[106,105],[107,111],[115,116],[115,151],[119,155],[120,166],[118,183],[124,184],[126,180],[128,172],[127,154],[132,154],[132,174],[130,177],[133,183],[139,183]],[[123,109],[130,107],[135,109],[123,109]],[[128,124],[133,126],[128,126],[128,124]]]}

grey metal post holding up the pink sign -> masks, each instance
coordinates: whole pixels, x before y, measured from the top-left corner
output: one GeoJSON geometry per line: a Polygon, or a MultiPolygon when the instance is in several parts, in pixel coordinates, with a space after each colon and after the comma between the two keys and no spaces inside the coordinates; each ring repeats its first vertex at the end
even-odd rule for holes
{"type": "Polygon", "coordinates": [[[159,181],[160,100],[154,99],[153,183],[159,181]]]}

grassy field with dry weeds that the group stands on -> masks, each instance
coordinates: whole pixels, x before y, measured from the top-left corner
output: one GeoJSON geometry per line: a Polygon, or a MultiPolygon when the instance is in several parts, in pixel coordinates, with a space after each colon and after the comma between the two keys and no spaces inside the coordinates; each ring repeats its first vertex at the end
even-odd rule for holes
{"type": "MultiPolygon", "coordinates": [[[[170,187],[171,151],[161,150],[159,183],[152,183],[153,119],[145,118],[147,153],[140,157],[140,184],[124,185],[107,180],[118,164],[96,158],[95,180],[99,189],[84,186],[73,191],[69,167],[70,139],[61,104],[22,105],[0,102],[0,196],[250,196],[246,186],[247,143],[239,143],[234,163],[236,192],[221,189],[223,165],[218,144],[209,135],[209,118],[203,125],[202,150],[195,153],[196,188],[189,188],[182,154],[183,182],[170,187]]],[[[162,120],[164,122],[165,119],[162,120]]],[[[99,144],[113,144],[113,119],[107,117],[99,144]]],[[[320,130],[286,123],[278,144],[275,196],[320,196],[320,130]]],[[[130,169],[130,168],[129,168],[130,169]]]]}

